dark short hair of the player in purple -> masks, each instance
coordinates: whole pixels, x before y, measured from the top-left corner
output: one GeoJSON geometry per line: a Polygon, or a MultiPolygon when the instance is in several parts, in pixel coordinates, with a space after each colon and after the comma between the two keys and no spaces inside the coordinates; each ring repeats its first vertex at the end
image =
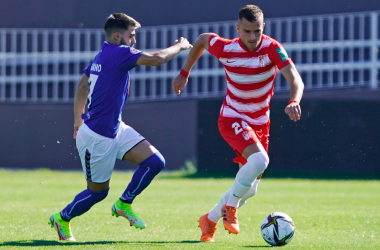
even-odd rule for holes
{"type": "Polygon", "coordinates": [[[107,36],[110,36],[115,31],[128,30],[129,26],[137,29],[141,27],[141,24],[124,13],[114,13],[107,18],[104,24],[104,31],[107,36]]]}

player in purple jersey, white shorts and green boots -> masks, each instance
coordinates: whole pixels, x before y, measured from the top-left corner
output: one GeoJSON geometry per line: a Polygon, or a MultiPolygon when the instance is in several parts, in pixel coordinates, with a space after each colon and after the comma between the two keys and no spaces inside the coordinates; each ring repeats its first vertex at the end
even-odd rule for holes
{"type": "Polygon", "coordinates": [[[192,46],[181,37],[171,47],[142,53],[133,48],[135,30],[140,27],[126,14],[110,15],[104,25],[107,41],[84,70],[78,84],[74,99],[74,139],[87,189],[50,217],[49,224],[60,240],[75,241],[69,224],[71,219],[107,197],[116,158],[139,167],[120,199],[113,204],[112,215],[125,217],[136,228],[146,227],[131,204],[165,166],[165,159],[144,137],[121,121],[129,93],[129,71],[137,65],[161,65],[192,46]],[[84,114],[86,103],[87,113],[84,114]]]}

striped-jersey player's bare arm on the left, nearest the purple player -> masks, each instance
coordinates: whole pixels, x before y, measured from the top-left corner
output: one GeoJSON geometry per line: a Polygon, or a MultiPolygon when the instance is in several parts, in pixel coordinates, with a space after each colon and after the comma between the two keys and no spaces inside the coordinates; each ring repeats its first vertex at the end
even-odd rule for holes
{"type": "Polygon", "coordinates": [[[172,89],[176,94],[181,94],[181,90],[186,86],[188,74],[190,74],[194,64],[197,62],[199,57],[201,57],[203,51],[205,49],[208,50],[208,40],[212,35],[214,35],[214,33],[203,33],[199,35],[198,39],[195,41],[193,48],[190,50],[186,62],[182,67],[183,71],[181,70],[181,72],[185,73],[185,75],[180,73],[173,79],[172,89]]]}

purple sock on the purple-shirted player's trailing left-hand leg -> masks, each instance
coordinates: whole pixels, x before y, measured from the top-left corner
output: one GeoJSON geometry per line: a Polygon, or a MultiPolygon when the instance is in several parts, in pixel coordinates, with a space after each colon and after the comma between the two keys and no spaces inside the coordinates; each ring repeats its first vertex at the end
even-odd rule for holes
{"type": "Polygon", "coordinates": [[[62,219],[70,221],[72,218],[84,214],[90,210],[93,205],[106,198],[108,190],[102,192],[91,191],[88,188],[83,190],[75,196],[74,200],[69,205],[62,209],[62,219]]]}

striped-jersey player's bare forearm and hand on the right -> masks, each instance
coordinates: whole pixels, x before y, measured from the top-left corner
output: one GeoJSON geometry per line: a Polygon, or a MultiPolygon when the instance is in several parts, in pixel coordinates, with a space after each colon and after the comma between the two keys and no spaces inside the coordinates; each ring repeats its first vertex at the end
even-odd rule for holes
{"type": "Polygon", "coordinates": [[[290,83],[290,101],[285,107],[285,113],[290,120],[298,121],[301,118],[301,98],[303,94],[304,84],[300,74],[293,63],[283,67],[281,74],[290,83]]]}

